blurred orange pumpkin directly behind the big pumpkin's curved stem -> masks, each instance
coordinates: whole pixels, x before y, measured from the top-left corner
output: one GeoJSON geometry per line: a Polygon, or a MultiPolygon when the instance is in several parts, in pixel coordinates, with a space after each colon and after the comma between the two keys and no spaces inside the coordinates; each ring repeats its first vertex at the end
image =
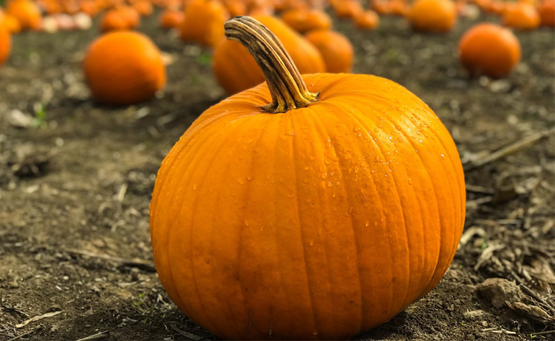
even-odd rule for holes
{"type": "MultiPolygon", "coordinates": [[[[325,63],[320,52],[299,33],[272,15],[255,15],[276,36],[291,54],[301,73],[323,73],[325,63]]],[[[230,94],[249,89],[264,82],[262,70],[241,44],[221,40],[214,50],[214,74],[223,89],[230,94]]]]}

